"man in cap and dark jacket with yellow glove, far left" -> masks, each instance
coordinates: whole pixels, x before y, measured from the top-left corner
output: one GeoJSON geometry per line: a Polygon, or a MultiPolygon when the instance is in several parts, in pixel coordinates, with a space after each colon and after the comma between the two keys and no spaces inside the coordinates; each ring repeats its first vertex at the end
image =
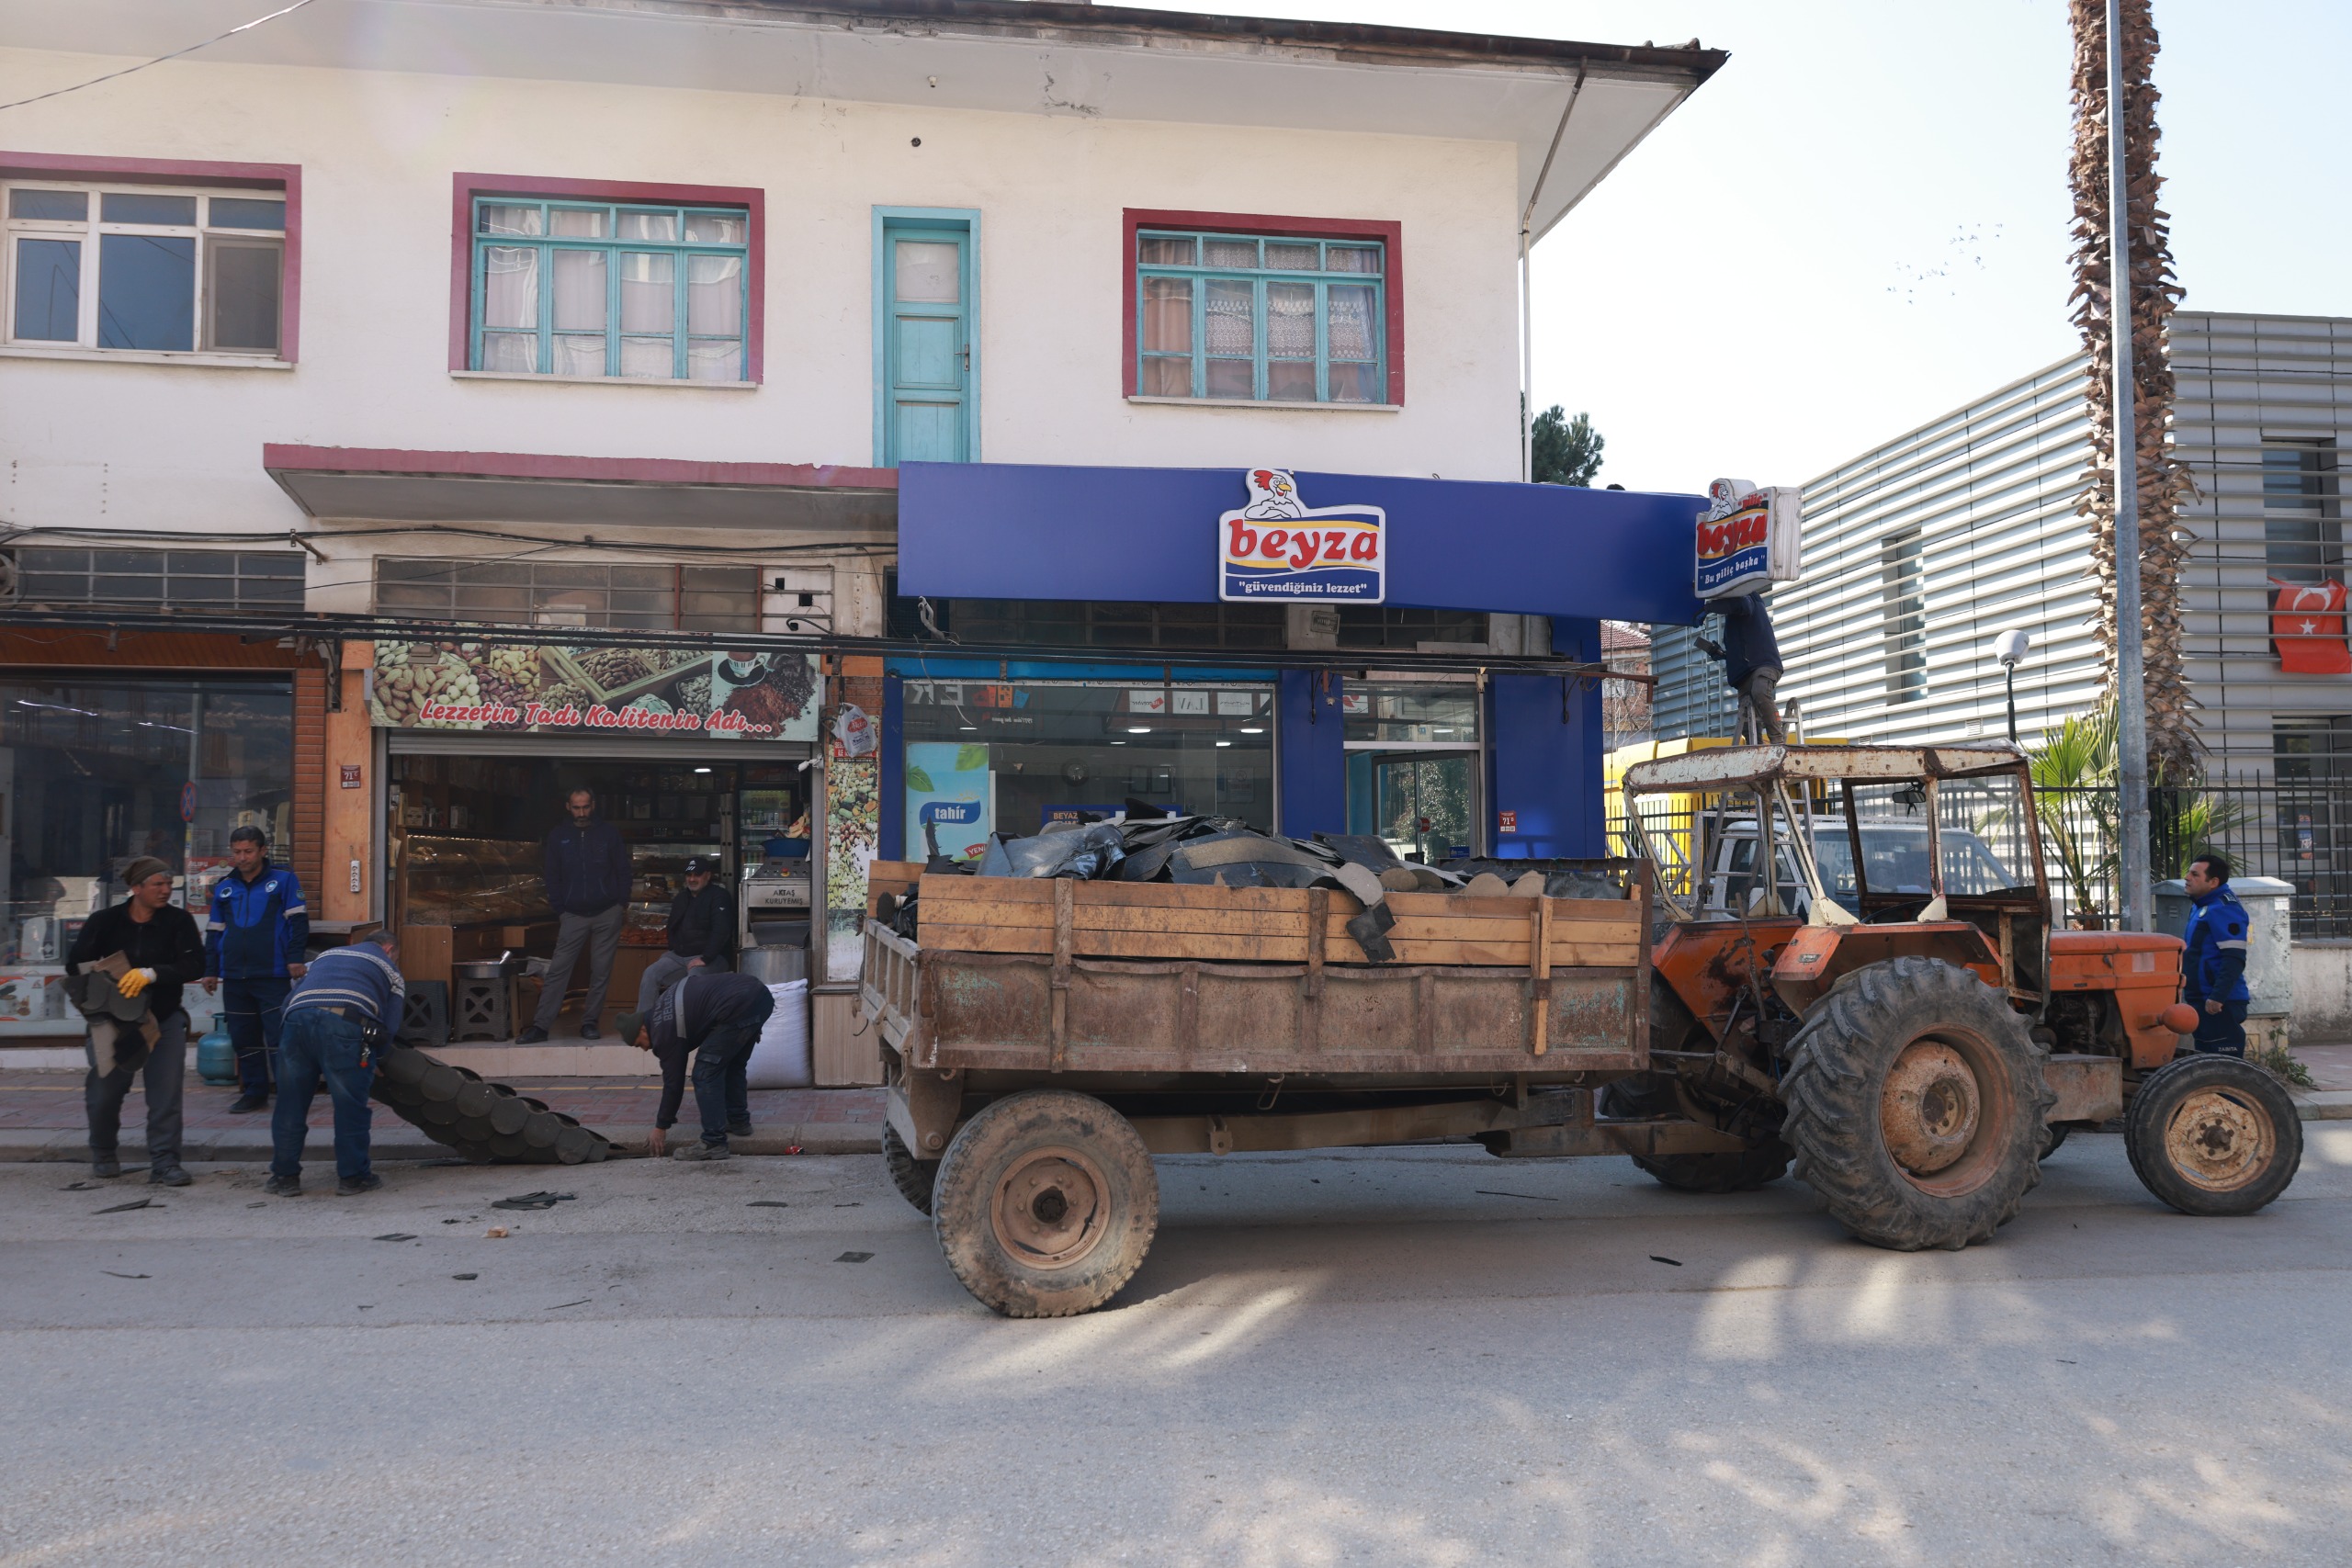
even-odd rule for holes
{"type": "Polygon", "coordinates": [[[85,1041],[89,1077],[82,1079],[82,1105],[89,1112],[89,1171],[122,1175],[115,1138],[122,1131],[122,1100],[139,1079],[148,1100],[148,1180],[186,1187],[193,1178],[179,1168],[179,1084],[188,1067],[188,1013],[179,994],[188,980],[205,973],[205,938],[195,917],[172,905],[172,867],[155,856],[139,856],[122,867],[129,898],[89,917],[73,938],[66,969],[82,973],[122,954],[129,971],[115,980],[125,997],[143,997],[155,1020],[155,1041],[141,1051],[141,1034],[118,1030],[106,1072],[99,1051],[85,1041]]]}

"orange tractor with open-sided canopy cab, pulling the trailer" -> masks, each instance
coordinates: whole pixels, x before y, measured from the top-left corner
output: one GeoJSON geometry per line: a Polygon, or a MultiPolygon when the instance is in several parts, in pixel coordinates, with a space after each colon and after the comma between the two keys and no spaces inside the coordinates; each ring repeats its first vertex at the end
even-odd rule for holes
{"type": "Polygon", "coordinates": [[[2056,929],[2013,745],[1743,745],[1635,764],[1623,792],[1658,870],[1651,1051],[1599,1114],[1745,1145],[1637,1154],[1661,1182],[1795,1166],[1856,1237],[1915,1251],[1990,1239],[2065,1133],[2112,1117],[2185,1213],[2293,1180],[2279,1081],[2178,1053],[2180,940],[2056,929]],[[1710,806],[1670,820],[1677,799],[1710,806]]]}

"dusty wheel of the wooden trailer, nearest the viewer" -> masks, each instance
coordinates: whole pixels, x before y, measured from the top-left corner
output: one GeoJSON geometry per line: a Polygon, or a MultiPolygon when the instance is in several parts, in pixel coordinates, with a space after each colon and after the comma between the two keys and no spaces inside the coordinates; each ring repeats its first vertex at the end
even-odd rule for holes
{"type": "Polygon", "coordinates": [[[938,1161],[931,1229],[948,1267],[1004,1316],[1101,1307],[1160,1227],[1160,1178],[1101,1100],[1030,1088],[993,1100],[938,1161]]]}

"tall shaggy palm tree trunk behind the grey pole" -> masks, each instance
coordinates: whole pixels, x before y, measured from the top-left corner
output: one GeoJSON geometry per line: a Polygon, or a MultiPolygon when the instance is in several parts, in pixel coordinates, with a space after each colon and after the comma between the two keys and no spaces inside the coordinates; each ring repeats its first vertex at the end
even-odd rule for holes
{"type": "MultiPolygon", "coordinates": [[[[2107,5],[2070,0],[2074,24],[2074,324],[2091,355],[2084,397],[2091,416],[2091,468],[2077,512],[2091,524],[2091,576],[2098,578],[2098,642],[2114,691],[2114,357],[2112,252],[2107,214],[2107,5]]],[[[2147,668],[2150,776],[2197,776],[2197,726],[2180,670],[2180,567],[2190,536],[2180,501],[2194,491],[2171,456],[2173,367],[2166,322],[2180,299],[2173,282],[2169,219],[2157,207],[2157,24],[2150,0],[2122,0],[2124,35],[2124,183],[2131,235],[2133,437],[2140,480],[2140,611],[2147,668]]]]}

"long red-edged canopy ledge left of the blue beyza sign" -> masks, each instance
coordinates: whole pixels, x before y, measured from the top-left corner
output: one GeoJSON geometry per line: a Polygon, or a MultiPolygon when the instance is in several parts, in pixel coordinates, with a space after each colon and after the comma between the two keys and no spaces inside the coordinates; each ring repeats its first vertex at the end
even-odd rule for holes
{"type": "Polygon", "coordinates": [[[261,465],[320,520],[661,524],[887,545],[898,515],[894,470],[830,463],[268,444],[261,465]]]}

